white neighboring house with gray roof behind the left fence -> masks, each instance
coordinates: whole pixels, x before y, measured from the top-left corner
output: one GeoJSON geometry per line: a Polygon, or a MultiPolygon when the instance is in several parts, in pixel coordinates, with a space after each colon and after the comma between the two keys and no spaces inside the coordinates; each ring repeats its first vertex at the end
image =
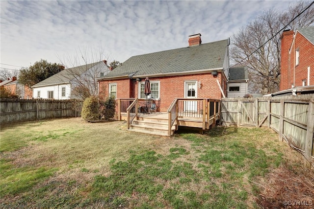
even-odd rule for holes
{"type": "Polygon", "coordinates": [[[32,86],[33,97],[43,99],[73,99],[74,90],[80,86],[88,87],[91,92],[98,92],[96,78],[110,70],[107,61],[68,68],[32,86]]]}

